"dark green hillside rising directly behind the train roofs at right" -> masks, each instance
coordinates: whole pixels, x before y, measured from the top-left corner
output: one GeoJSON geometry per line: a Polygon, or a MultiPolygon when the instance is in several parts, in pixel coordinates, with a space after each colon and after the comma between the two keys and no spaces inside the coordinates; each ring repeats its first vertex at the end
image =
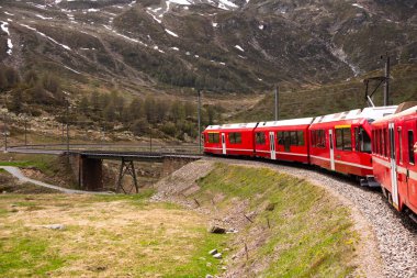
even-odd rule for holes
{"type": "MultiPolygon", "coordinates": [[[[382,71],[372,71],[361,78],[354,78],[335,85],[309,86],[303,90],[280,92],[280,119],[317,116],[328,113],[368,107],[364,101],[363,78],[381,76],[382,71]]],[[[370,92],[373,90],[370,86],[370,92]]],[[[383,104],[382,87],[375,92],[375,105],[383,104]]],[[[392,70],[391,103],[417,99],[417,65],[398,65],[392,70]]],[[[229,122],[271,121],[274,116],[274,96],[267,94],[251,109],[241,111],[228,119],[229,122]]]]}

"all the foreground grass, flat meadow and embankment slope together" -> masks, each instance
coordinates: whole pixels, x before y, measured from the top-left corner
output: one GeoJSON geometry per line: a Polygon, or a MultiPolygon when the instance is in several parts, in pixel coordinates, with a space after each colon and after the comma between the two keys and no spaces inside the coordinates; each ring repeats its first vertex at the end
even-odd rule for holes
{"type": "Polygon", "coordinates": [[[223,164],[198,184],[189,198],[205,209],[215,199],[215,213],[150,202],[153,189],[134,196],[0,194],[0,277],[205,277],[222,274],[224,265],[236,277],[354,274],[360,243],[349,211],[323,189],[271,169],[223,164]],[[218,213],[241,218],[235,207],[252,223],[244,220],[237,234],[207,232],[218,213]],[[224,259],[210,256],[213,248],[224,259]]]}

